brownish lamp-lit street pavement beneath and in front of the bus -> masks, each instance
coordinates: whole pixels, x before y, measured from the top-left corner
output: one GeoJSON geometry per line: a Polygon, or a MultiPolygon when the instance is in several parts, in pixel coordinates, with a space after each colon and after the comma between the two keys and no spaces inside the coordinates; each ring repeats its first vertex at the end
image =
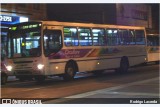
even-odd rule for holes
{"type": "Polygon", "coordinates": [[[44,99],[42,103],[46,104],[107,103],[103,102],[102,98],[105,98],[105,101],[115,98],[117,100],[133,98],[129,100],[130,103],[134,103],[135,98],[158,99],[159,65],[149,64],[130,68],[126,74],[116,74],[112,70],[106,70],[101,76],[80,73],[77,74],[74,81],[68,82],[63,81],[60,77],[49,78],[42,84],[37,84],[35,81],[16,80],[1,87],[1,97],[42,98],[44,99]]]}

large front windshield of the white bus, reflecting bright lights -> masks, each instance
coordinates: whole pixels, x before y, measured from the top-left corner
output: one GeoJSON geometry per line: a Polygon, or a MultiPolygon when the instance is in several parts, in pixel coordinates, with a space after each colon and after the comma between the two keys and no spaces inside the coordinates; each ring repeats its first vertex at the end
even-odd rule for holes
{"type": "Polygon", "coordinates": [[[37,24],[11,27],[8,33],[8,57],[38,57],[41,55],[41,33],[37,24]]]}

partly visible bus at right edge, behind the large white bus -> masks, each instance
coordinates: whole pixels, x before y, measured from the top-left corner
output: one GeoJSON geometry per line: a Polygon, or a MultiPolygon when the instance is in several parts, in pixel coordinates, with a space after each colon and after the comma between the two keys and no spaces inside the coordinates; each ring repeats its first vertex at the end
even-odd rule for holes
{"type": "Polygon", "coordinates": [[[160,61],[159,34],[147,34],[147,62],[160,61]]]}

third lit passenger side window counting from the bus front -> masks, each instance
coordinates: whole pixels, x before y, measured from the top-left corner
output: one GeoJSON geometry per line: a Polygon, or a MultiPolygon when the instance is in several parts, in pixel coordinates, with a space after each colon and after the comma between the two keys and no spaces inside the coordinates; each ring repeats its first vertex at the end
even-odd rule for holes
{"type": "Polygon", "coordinates": [[[105,38],[104,38],[104,29],[92,29],[93,34],[93,45],[94,46],[104,46],[105,38]]]}

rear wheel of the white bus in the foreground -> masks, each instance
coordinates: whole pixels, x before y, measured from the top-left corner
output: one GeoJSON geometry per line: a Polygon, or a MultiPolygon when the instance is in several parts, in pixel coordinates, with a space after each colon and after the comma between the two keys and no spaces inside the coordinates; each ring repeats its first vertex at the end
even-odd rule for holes
{"type": "Polygon", "coordinates": [[[121,61],[120,61],[119,72],[120,73],[126,73],[128,71],[128,68],[129,68],[128,58],[127,57],[122,57],[121,61]]]}

